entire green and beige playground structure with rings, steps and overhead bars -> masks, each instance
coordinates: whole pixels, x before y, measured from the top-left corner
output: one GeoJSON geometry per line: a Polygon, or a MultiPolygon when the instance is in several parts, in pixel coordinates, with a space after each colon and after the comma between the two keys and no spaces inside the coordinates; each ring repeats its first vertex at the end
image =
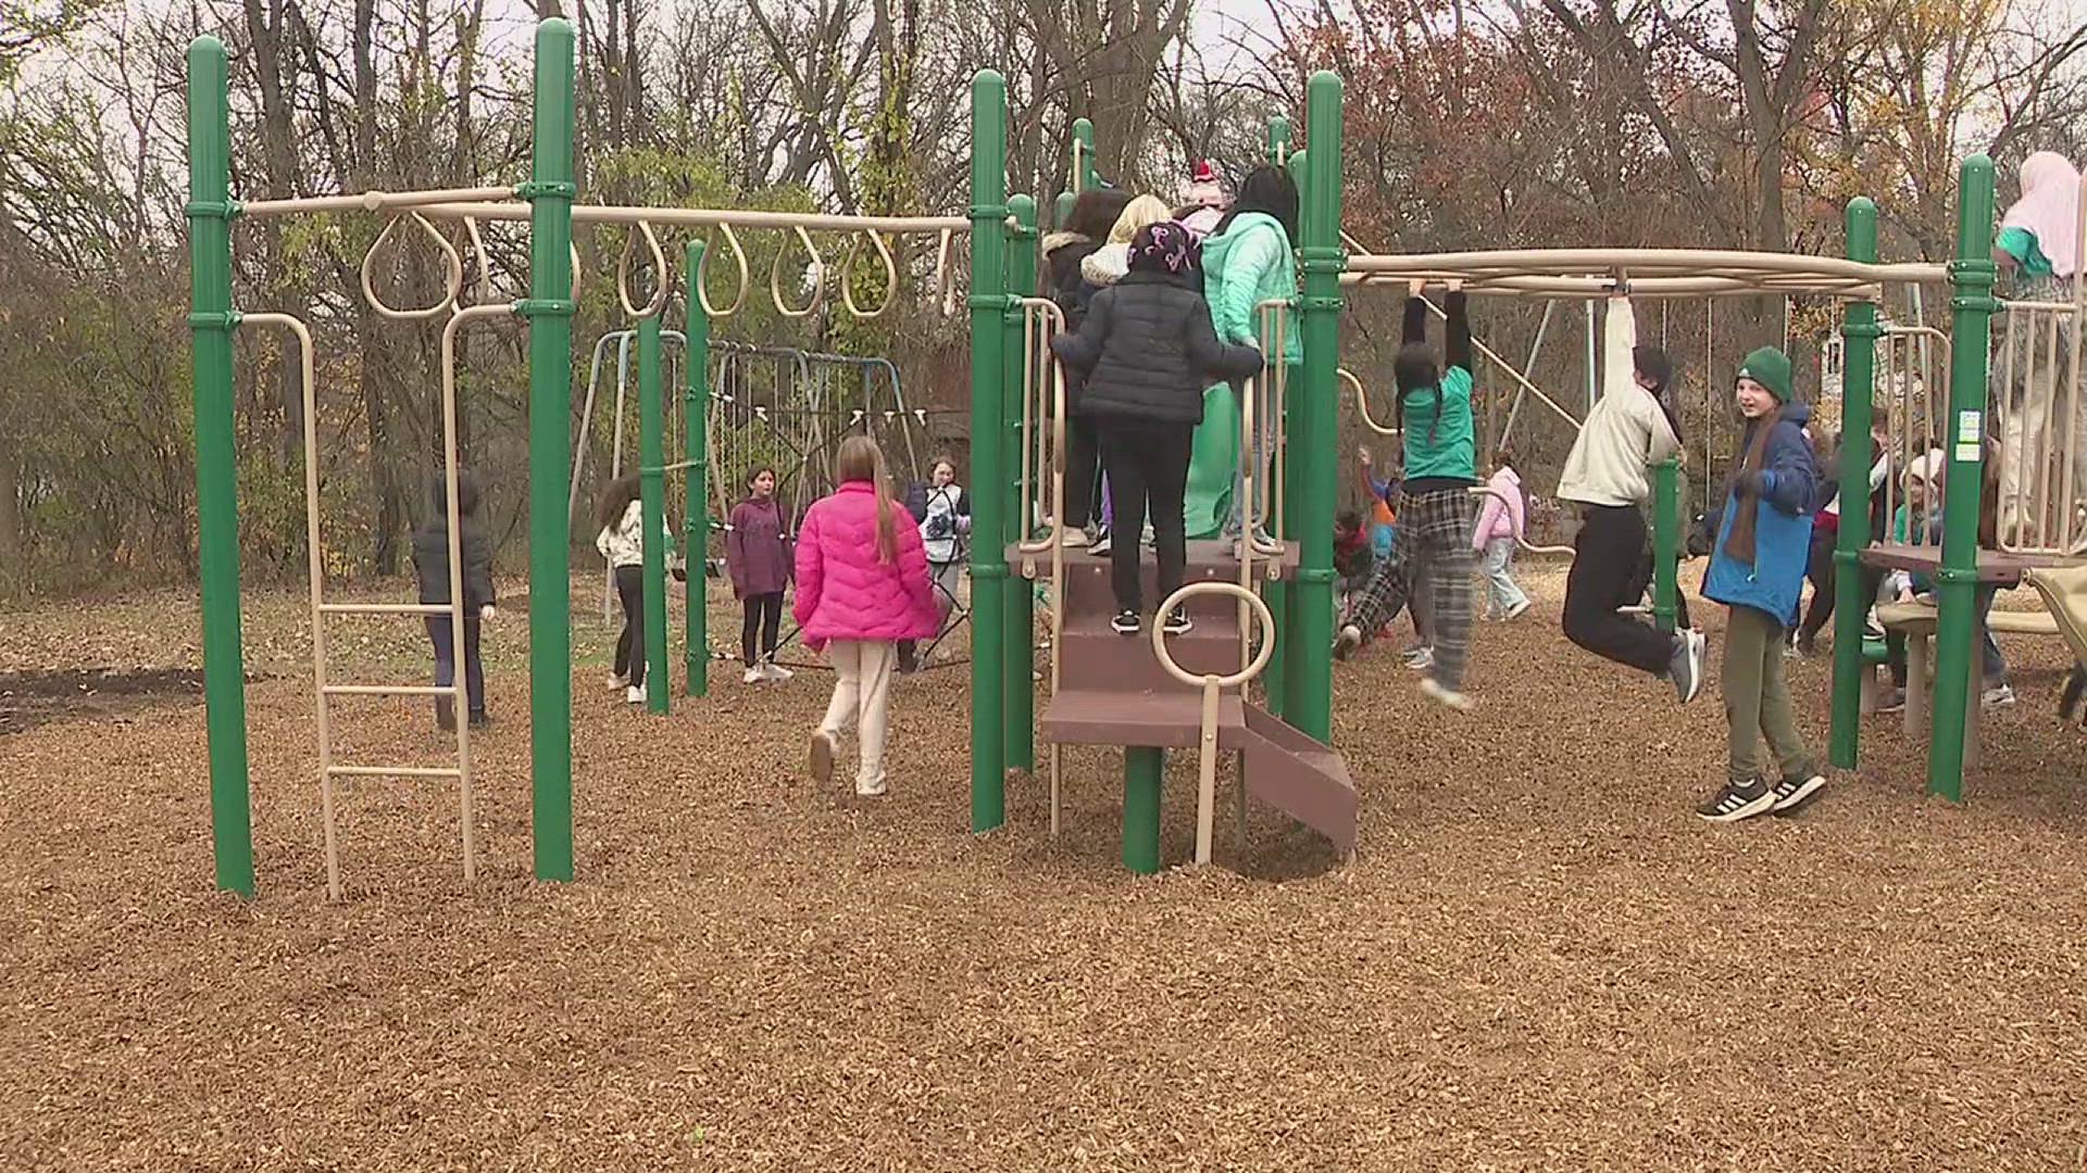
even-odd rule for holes
{"type": "MultiPolygon", "coordinates": [[[[407,236],[424,236],[442,255],[447,282],[436,305],[392,309],[376,301],[367,280],[365,296],[386,317],[426,317],[445,321],[445,436],[449,451],[445,472],[455,516],[455,447],[453,447],[453,340],[470,321],[522,315],[530,324],[530,772],[532,772],[532,841],[534,875],[538,879],[572,879],[572,632],[570,632],[570,513],[572,503],[572,438],[566,420],[572,411],[570,361],[572,315],[576,309],[574,223],[624,225],[624,259],[618,265],[618,301],[637,330],[639,351],[639,468],[643,476],[645,528],[664,522],[664,476],[685,468],[685,534],[689,547],[705,536],[703,497],[710,476],[712,417],[710,392],[710,326],[714,317],[730,317],[749,294],[749,265],[739,242],[739,230],[787,232],[810,257],[812,288],[806,303],[787,303],[781,282],[781,259],[770,269],[770,296],[787,315],[810,313],[826,292],[831,267],[818,257],[814,232],[849,236],[841,263],[839,294],[843,309],[856,317],[874,317],[897,298],[897,263],[885,236],[937,236],[933,301],[954,303],[952,269],[954,238],[968,230],[970,288],[966,296],[970,326],[970,420],[973,420],[973,614],[975,657],[970,664],[970,812],[973,829],[985,831],[1006,818],[1008,770],[1033,770],[1033,593],[1008,589],[1008,557],[1027,574],[1037,572],[1039,549],[1046,543],[1052,557],[1052,697],[1044,714],[1044,733],[1058,743],[1100,743],[1125,747],[1125,862],[1137,870],[1158,866],[1158,789],[1162,751],[1202,745],[1242,751],[1242,785],[1279,810],[1319,829],[1338,847],[1354,841],[1354,787],[1338,753],[1327,749],[1332,701],[1332,513],[1336,461],[1284,457],[1290,442],[1304,453],[1329,453],[1336,447],[1336,411],[1340,403],[1338,315],[1342,284],[1375,280],[1421,280],[1428,284],[1461,282],[1471,292],[1536,294],[1553,298],[1599,298],[1622,288],[1651,296],[1743,296],[1743,294],[1818,294],[1845,303],[1843,363],[1847,442],[1843,447],[1843,484],[1855,486],[1845,511],[1857,516],[1866,507],[1866,472],[1870,465],[1870,397],[1876,367],[1876,340],[1887,334],[1876,324],[1876,305],[1887,284],[1953,286],[1953,324],[1949,330],[1949,411],[1943,415],[1943,436],[1949,457],[1947,530],[1937,549],[1870,551],[1885,566],[1916,566],[1935,574],[1941,584],[1939,655],[1935,674],[1935,708],[1939,712],[1928,762],[1928,785],[1958,795],[1964,764],[1964,701],[1968,660],[1974,635],[1972,589],[1978,580],[2012,582],[2024,570],[2049,564],[2054,555],[2045,530],[2029,528],[2031,518],[2074,516],[2064,501],[2066,486],[2083,478],[2068,463],[2054,461],[2052,478],[2060,486],[2060,507],[2039,511],[2035,503],[2020,509],[2024,526],[2016,545],[2024,549],[1976,551],[1978,474],[1987,434],[1987,353],[1989,326],[1995,309],[1989,294],[1993,261],[1989,259],[1993,228],[1993,169],[1983,157],[1964,163],[1960,175],[1958,259],[1943,265],[1880,265],[1876,263],[1876,209],[1866,198],[1849,205],[1849,257],[1786,257],[1764,253],[1690,253],[1690,250],[1594,250],[1544,248],[1496,253],[1442,253],[1421,257],[1346,255],[1340,246],[1340,79],[1317,73],[1309,81],[1306,123],[1311,150],[1288,150],[1288,123],[1271,123],[1269,154],[1300,175],[1302,188],[1302,294],[1290,305],[1263,307],[1263,330],[1284,332],[1294,315],[1302,332],[1304,365],[1300,386],[1288,386],[1288,372],[1256,380],[1246,397],[1246,420],[1267,411],[1271,451],[1277,461],[1267,488],[1252,478],[1252,453],[1242,457],[1242,474],[1252,484],[1246,499],[1250,516],[1267,520],[1281,549],[1248,551],[1236,559],[1227,549],[1198,543],[1190,549],[1188,578],[1192,584],[1225,580],[1223,595],[1261,589],[1261,603],[1240,599],[1227,605],[1213,586],[1196,586],[1179,601],[1196,614],[1196,630],[1169,643],[1165,655],[1144,655],[1144,647],[1121,641],[1092,624],[1106,614],[1106,582],[1102,566],[1085,559],[1077,568],[1064,561],[1064,547],[1054,532],[1035,534],[1025,518],[1058,518],[1058,509],[1035,513],[1044,493],[1044,463],[1050,465],[1052,505],[1062,499],[1062,378],[1048,349],[1037,346],[1052,324],[1050,311],[1031,296],[1035,280],[1035,207],[1029,196],[1010,194],[1006,182],[1006,83],[998,73],[981,71],[970,88],[973,157],[966,217],[849,217],[718,209],[647,209],[578,205],[572,182],[572,90],[574,29],[561,19],[547,19],[536,29],[534,71],[534,150],[526,184],[513,188],[465,188],[432,192],[363,192],[315,198],[255,200],[240,205],[230,196],[230,119],[225,92],[225,48],[215,38],[198,38],[190,46],[190,246],[196,384],[196,478],[198,528],[205,616],[205,695],[209,705],[211,745],[211,808],[217,883],[253,893],[253,841],[248,814],[246,735],[244,735],[244,666],[240,655],[238,612],[238,524],[234,490],[234,409],[232,409],[232,334],[246,324],[284,326],[296,334],[311,394],[309,326],[288,315],[242,315],[232,305],[232,219],[238,215],[286,213],[390,213],[390,221],[371,246],[376,253],[401,228],[407,236]],[[482,253],[480,223],[528,221],[530,278],[528,296],[513,303],[488,301],[490,290],[476,290],[476,301],[463,305],[463,265],[457,248],[438,223],[461,230],[474,250],[482,253]],[[668,465],[664,457],[664,390],[662,390],[662,315],[670,303],[672,278],[668,250],[659,230],[699,230],[705,240],[682,244],[685,267],[685,459],[668,465]],[[705,282],[707,240],[722,240],[737,273],[737,290],[728,305],[712,301],[705,282]],[[879,305],[864,305],[854,288],[849,261],[868,246],[885,278],[879,305]],[[649,259],[653,269],[651,296],[639,301],[630,292],[632,259],[649,259]],[[1018,334],[1039,334],[1021,340],[1018,334]],[[1041,361],[1039,361],[1041,359],[1041,361]],[[1290,392],[1296,394],[1290,394],[1290,392]],[[1267,399],[1263,399],[1263,392],[1267,399]],[[1273,409],[1258,405],[1273,403],[1273,409]],[[1050,428],[1046,432],[1046,424],[1050,428]],[[1025,470],[1016,476],[1016,470],[1025,470]],[[557,501],[557,490],[568,501],[557,501]],[[2031,536],[2022,536],[2031,534],[2031,536]],[[1261,572],[1256,559],[1265,557],[1261,572]],[[1244,566],[1242,566],[1244,561],[1244,566]],[[1229,582],[1233,576],[1238,584],[1229,582]],[[1248,628],[1254,622],[1254,630],[1248,628]],[[1094,630],[1089,630],[1094,626],[1094,630]],[[1258,637],[1258,639],[1256,639],[1258,637]],[[1258,647],[1256,647],[1258,643],[1258,647]],[[1252,655],[1246,655],[1248,649],[1252,655]],[[1233,666],[1240,666],[1238,670],[1233,666]],[[1256,676],[1258,672],[1258,676],[1256,676]],[[1236,687],[1258,678],[1267,708],[1238,697],[1219,697],[1215,720],[1208,718],[1210,676],[1219,689],[1238,676],[1236,687]],[[1215,731],[1213,731],[1215,726],[1215,731]],[[1213,731],[1213,733],[1206,733],[1213,731]]],[[[1089,138],[1077,142],[1092,144],[1089,138]]],[[[1075,173],[1092,184],[1092,150],[1075,148],[1075,173]]],[[[480,273],[486,265],[480,263],[480,273]]],[[[2024,307],[2045,313],[2068,313],[2068,326],[2081,317],[2081,303],[2070,307],[2024,307]]],[[[1265,353],[1281,353],[1267,349],[1265,353]]],[[[2049,355],[2052,349],[2047,346],[2049,355]]],[[[2079,367],[2077,330],[2072,367],[2079,367]]],[[[2077,378],[2068,390],[2054,397],[2056,407],[2077,405],[2077,378]]],[[[1534,388],[1526,388],[1534,390],[1534,388]]],[[[1569,415],[1553,403],[1555,409],[1569,415]]],[[[311,411],[307,411],[307,420],[311,411]]],[[[2024,424],[2024,430],[2029,424],[2024,424]]],[[[2049,428],[2045,428],[2049,432],[2049,428]]],[[[1244,436],[1250,432],[1242,434],[1244,436]]],[[[2074,430],[2077,434],[2077,430],[2074,430]]],[[[311,445],[307,430],[307,445],[311,445]]],[[[2079,447],[2060,453],[2077,463],[2079,447]]],[[[307,486],[311,472],[307,470],[307,486]]],[[[2037,476],[2035,484],[2047,484],[2037,476]]],[[[1674,549],[1674,488],[1663,478],[1655,509],[1655,541],[1674,549]]],[[[2041,524],[2041,522],[2039,522],[2041,524]]],[[[1839,589],[1855,597],[1857,557],[1864,530],[1845,526],[1837,551],[1839,589]]],[[[313,564],[317,534],[313,534],[313,564]]],[[[451,572],[461,557],[453,534],[451,572]]],[[[2060,541],[2060,545],[2068,545],[2060,541]]],[[[1659,557],[1661,620],[1672,622],[1672,557],[1659,557]]],[[[703,574],[689,576],[687,607],[687,689],[701,695],[707,687],[707,655],[703,635],[703,574]]],[[[313,572],[315,618],[315,691],[319,705],[319,781],[330,804],[330,781],[340,774],[407,774],[388,766],[342,766],[330,762],[326,741],[326,699],[355,689],[328,683],[328,660],[319,620],[338,614],[319,597],[313,572]]],[[[461,584],[451,582],[451,622],[461,622],[461,584]]],[[[666,586],[664,557],[647,549],[645,561],[647,662],[653,678],[666,680],[666,586]]],[[[390,612],[426,614],[419,607],[386,607],[390,612]]],[[[1834,668],[1834,739],[1832,760],[1851,766],[1855,760],[1855,712],[1860,680],[1853,670],[1862,655],[1862,609],[1843,607],[1837,628],[1834,668]]],[[[374,689],[382,693],[428,695],[432,689],[374,689]]],[[[653,689],[653,710],[664,712],[668,689],[653,689]]],[[[459,722],[463,724],[463,722],[459,722]]],[[[474,868],[476,843],[470,812],[470,741],[459,728],[459,806],[463,808],[465,870],[474,868]]],[[[430,774],[436,770],[430,768],[430,774]]],[[[440,776],[451,776],[440,770],[440,776]]],[[[1208,793],[1208,787],[1204,787],[1208,793]]],[[[1056,793],[1056,781],[1054,781],[1056,793]]],[[[1198,854],[1206,856],[1208,801],[1200,804],[1198,854]]],[[[1056,801],[1054,801],[1056,810],[1056,801]]],[[[328,820],[332,822],[332,820],[328,820]]],[[[330,847],[332,858],[332,847],[330,847]]],[[[338,879],[332,883],[338,893],[338,879]]]]}

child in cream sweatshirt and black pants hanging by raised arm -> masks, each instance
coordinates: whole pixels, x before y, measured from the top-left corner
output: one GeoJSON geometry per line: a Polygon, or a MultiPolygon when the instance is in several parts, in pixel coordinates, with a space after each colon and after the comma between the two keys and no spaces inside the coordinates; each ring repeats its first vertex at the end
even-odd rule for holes
{"type": "Polygon", "coordinates": [[[1559,476],[1559,501],[1580,505],[1563,626],[1565,639],[1594,655],[1670,680],[1688,703],[1703,691],[1703,632],[1668,635],[1622,612],[1642,591],[1636,570],[1649,538],[1640,507],[1653,495],[1651,468],[1682,445],[1674,411],[1659,394],[1674,361],[1636,340],[1630,298],[1611,296],[1603,321],[1603,394],[1559,476]]]}

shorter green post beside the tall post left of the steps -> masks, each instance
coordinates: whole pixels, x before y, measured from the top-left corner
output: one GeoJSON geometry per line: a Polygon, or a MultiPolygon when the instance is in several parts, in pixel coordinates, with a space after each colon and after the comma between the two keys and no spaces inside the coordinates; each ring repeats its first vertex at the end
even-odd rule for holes
{"type": "MultiPolygon", "coordinates": [[[[1008,255],[1008,328],[1006,328],[1006,353],[1002,355],[1002,367],[1006,369],[1006,394],[1002,399],[1006,411],[1006,465],[1004,497],[1008,501],[1006,522],[1008,532],[998,538],[1002,545],[1029,536],[1029,503],[1023,501],[1018,490],[1018,476],[1023,463],[1023,384],[1029,372],[1023,369],[1023,307],[1014,305],[1014,298],[1031,296],[1037,288],[1037,202],[1029,196],[1012,196],[1008,200],[1008,211],[1014,215],[1016,228],[1006,230],[1006,255],[1008,255]]],[[[1048,355],[1037,357],[1046,361],[1048,355]]],[[[1046,415],[1037,420],[1037,428],[1044,428],[1050,420],[1050,405],[1044,405],[1046,415]]],[[[1052,445],[1056,449],[1056,445],[1052,445]]],[[[1050,474],[1037,470],[1041,486],[1050,486],[1050,474]]],[[[977,538],[973,538],[977,541],[977,538]]],[[[1031,670],[1035,668],[1035,591],[1029,582],[1010,582],[1006,591],[1008,607],[1008,630],[1006,635],[1006,655],[1008,655],[1008,691],[1006,691],[1006,741],[1002,751],[1006,753],[1006,768],[1010,770],[1035,770],[1035,685],[1031,685],[1031,670]]]]}

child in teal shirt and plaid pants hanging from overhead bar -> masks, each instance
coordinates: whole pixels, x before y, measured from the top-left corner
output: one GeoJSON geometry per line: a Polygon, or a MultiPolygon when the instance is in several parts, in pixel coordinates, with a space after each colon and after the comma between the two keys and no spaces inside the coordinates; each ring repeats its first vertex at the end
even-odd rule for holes
{"type": "Polygon", "coordinates": [[[1478,440],[1471,422],[1471,319],[1463,282],[1450,282],[1444,334],[1446,369],[1428,346],[1425,282],[1407,288],[1405,342],[1392,374],[1398,386],[1396,417],[1405,442],[1405,484],[1398,497],[1398,534],[1390,561],[1371,574],[1348,622],[1334,641],[1346,660],[1396,616],[1428,578],[1434,653],[1421,693],[1453,710],[1469,710],[1463,693],[1465,653],[1471,643],[1471,488],[1478,484],[1478,440]]]}

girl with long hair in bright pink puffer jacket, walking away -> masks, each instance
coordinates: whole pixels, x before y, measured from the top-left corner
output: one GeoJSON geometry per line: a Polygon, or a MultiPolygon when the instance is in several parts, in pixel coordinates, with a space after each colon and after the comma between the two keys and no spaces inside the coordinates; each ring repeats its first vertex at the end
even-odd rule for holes
{"type": "Polygon", "coordinates": [[[885,453],[868,436],[849,436],[835,457],[833,497],[797,526],[797,605],[803,645],[833,662],[833,699],[812,733],[812,779],[833,781],[841,733],[860,724],[862,764],[856,793],[885,793],[885,708],[897,641],[935,635],[935,595],[920,530],[891,499],[885,453]],[[899,524],[906,518],[906,524],[899,524]]]}

